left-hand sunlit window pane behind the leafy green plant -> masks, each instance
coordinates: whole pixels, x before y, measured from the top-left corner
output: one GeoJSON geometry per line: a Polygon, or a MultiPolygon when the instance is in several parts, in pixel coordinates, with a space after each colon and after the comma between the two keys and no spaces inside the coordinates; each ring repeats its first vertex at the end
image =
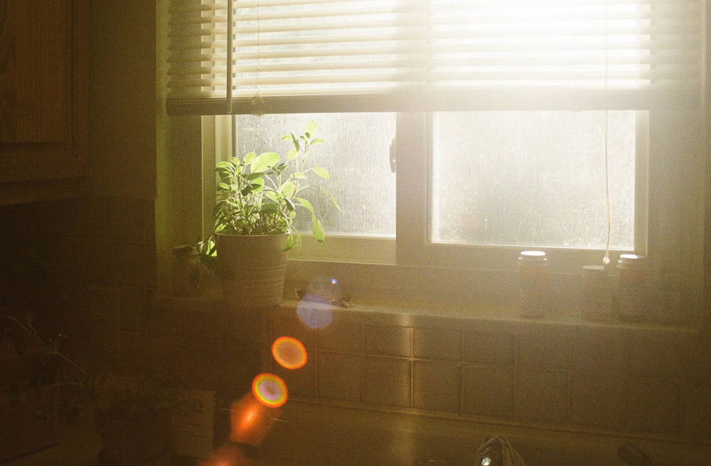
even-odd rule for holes
{"type": "MultiPolygon", "coordinates": [[[[338,212],[317,190],[309,193],[326,234],[395,237],[395,173],[390,170],[394,113],[240,115],[237,153],[275,151],[286,158],[292,145],[281,141],[282,136],[301,134],[311,120],[319,125],[317,135],[324,143],[309,150],[309,166],[328,170],[331,180],[319,181],[343,210],[338,212]]],[[[311,231],[308,216],[302,220],[296,228],[311,231]]]]}

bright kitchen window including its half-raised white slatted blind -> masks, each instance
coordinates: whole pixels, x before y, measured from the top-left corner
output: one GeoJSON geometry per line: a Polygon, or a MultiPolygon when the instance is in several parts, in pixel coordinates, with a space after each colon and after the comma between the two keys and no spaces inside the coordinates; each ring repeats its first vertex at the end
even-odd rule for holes
{"type": "Polygon", "coordinates": [[[609,246],[697,302],[702,2],[543,3],[174,0],[167,109],[237,115],[237,152],[319,122],[349,215],[304,256],[577,273],[609,246]]]}

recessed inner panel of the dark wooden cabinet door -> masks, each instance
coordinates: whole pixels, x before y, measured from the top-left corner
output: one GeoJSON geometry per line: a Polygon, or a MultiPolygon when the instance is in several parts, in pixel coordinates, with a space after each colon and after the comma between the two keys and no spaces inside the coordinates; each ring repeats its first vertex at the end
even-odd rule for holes
{"type": "Polygon", "coordinates": [[[0,142],[66,142],[71,1],[0,4],[0,142]]]}

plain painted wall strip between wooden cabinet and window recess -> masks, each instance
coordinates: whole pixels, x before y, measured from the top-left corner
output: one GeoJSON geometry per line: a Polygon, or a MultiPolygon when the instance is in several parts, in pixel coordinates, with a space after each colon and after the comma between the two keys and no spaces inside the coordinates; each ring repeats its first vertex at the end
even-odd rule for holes
{"type": "Polygon", "coordinates": [[[156,5],[91,2],[90,141],[95,195],[156,195],[156,5]]]}

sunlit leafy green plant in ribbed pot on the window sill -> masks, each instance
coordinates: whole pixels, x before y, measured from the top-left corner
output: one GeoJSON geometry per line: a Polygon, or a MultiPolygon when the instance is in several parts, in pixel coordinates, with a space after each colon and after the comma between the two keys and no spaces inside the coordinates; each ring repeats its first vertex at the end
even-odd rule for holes
{"type": "Polygon", "coordinates": [[[287,269],[286,252],[301,245],[294,220],[309,215],[316,241],[324,241],[324,228],[314,205],[304,197],[318,191],[340,211],[333,195],[316,177],[328,180],[328,171],[309,166],[317,125],[306,124],[304,133],[282,137],[292,143],[285,158],[277,152],[247,153],[215,166],[218,175],[213,232],[199,245],[203,260],[223,283],[225,300],[239,308],[258,308],[282,301],[287,269]]]}

